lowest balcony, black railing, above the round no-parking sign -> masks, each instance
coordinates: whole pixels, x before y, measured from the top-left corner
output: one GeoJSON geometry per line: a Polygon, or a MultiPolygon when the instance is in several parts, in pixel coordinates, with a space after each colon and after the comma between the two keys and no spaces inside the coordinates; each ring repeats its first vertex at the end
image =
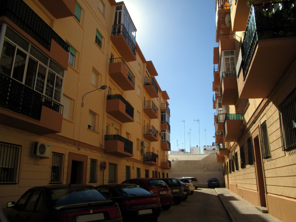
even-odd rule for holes
{"type": "Polygon", "coordinates": [[[133,157],[133,142],[120,135],[105,135],[105,152],[118,157],[133,157]]]}

